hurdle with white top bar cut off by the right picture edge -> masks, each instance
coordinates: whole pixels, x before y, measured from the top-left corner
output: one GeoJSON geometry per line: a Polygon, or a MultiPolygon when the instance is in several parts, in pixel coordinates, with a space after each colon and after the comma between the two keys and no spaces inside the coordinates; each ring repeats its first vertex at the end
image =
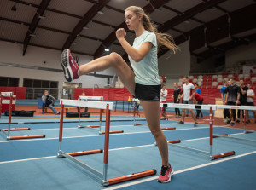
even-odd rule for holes
{"type": "MultiPolygon", "coordinates": [[[[244,120],[243,120],[243,133],[244,134],[255,133],[255,131],[253,131],[253,130],[247,130],[246,110],[255,110],[256,111],[256,107],[250,107],[250,106],[230,106],[230,105],[216,105],[216,107],[217,108],[221,108],[221,109],[229,109],[229,110],[230,109],[243,110],[243,116],[244,116],[244,120]]],[[[256,142],[256,140],[234,137],[234,136],[230,136],[230,135],[227,135],[227,134],[224,134],[224,135],[214,134],[214,136],[215,137],[224,137],[224,138],[234,139],[234,140],[238,140],[238,141],[256,142]]]]}

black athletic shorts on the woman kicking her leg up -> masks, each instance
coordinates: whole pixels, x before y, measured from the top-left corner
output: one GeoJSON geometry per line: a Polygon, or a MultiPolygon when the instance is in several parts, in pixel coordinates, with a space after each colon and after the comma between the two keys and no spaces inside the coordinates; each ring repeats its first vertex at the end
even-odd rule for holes
{"type": "Polygon", "coordinates": [[[140,101],[160,101],[161,85],[135,84],[135,98],[140,101]]]}

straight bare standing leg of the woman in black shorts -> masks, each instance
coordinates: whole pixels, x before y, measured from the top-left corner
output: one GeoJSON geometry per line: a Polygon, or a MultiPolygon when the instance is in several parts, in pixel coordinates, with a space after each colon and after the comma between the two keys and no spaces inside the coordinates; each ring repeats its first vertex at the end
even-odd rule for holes
{"type": "Polygon", "coordinates": [[[160,116],[159,116],[159,101],[141,101],[143,111],[145,113],[148,127],[154,135],[154,139],[160,151],[162,158],[162,165],[169,166],[168,162],[168,145],[166,136],[160,129],[160,116]]]}

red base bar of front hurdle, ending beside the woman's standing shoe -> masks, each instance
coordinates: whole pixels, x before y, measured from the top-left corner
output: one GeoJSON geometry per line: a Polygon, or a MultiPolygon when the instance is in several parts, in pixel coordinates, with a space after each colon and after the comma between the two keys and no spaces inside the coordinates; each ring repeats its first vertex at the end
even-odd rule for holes
{"type": "Polygon", "coordinates": [[[108,181],[102,181],[102,187],[114,185],[114,184],[125,182],[125,181],[135,180],[135,179],[139,179],[146,176],[153,176],[155,174],[156,174],[156,170],[152,169],[152,170],[134,173],[131,175],[119,176],[112,179],[108,179],[108,181]]]}

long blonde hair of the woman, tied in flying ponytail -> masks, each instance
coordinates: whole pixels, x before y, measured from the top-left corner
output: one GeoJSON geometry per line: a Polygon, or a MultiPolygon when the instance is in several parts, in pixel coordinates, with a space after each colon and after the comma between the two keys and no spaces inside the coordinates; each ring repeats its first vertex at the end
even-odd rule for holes
{"type": "Polygon", "coordinates": [[[125,12],[127,10],[131,10],[136,15],[143,14],[143,26],[146,31],[154,32],[158,46],[165,46],[167,49],[171,49],[174,54],[176,53],[176,50],[179,48],[174,43],[172,36],[166,33],[159,32],[156,26],[151,22],[148,14],[146,14],[141,7],[130,6],[125,9],[125,12]]]}

